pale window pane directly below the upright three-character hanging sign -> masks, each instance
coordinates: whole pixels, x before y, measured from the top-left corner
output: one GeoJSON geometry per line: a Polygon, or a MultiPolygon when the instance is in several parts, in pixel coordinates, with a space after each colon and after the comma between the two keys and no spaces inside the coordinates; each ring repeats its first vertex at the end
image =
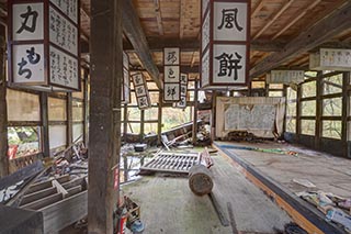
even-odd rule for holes
{"type": "Polygon", "coordinates": [[[191,121],[191,108],[183,109],[163,108],[162,109],[162,131],[170,130],[191,121]]]}

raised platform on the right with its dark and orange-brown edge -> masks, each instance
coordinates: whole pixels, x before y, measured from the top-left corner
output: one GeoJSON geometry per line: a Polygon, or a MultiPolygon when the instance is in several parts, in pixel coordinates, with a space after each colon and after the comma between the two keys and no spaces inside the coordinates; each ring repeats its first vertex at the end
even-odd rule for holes
{"type": "Polygon", "coordinates": [[[325,215],[295,193],[310,190],[293,180],[308,180],[313,190],[351,197],[351,160],[332,157],[290,144],[215,142],[214,146],[230,160],[242,175],[268,193],[293,220],[308,233],[344,233],[325,221],[325,215]],[[274,154],[244,148],[293,151],[297,155],[274,154]]]}

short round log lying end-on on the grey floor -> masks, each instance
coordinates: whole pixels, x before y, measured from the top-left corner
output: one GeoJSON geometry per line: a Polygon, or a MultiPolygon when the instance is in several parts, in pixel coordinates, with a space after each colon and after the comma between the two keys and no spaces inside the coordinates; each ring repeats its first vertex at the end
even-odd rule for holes
{"type": "Polygon", "coordinates": [[[213,188],[212,172],[204,165],[194,165],[189,170],[189,187],[197,196],[208,194],[213,188]]]}

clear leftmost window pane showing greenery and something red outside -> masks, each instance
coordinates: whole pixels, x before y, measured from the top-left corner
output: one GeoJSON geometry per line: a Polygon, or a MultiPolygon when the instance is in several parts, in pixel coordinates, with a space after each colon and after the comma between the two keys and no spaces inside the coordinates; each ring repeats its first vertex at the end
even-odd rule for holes
{"type": "Polygon", "coordinates": [[[10,159],[38,153],[41,151],[39,133],[39,126],[8,127],[10,159]]]}

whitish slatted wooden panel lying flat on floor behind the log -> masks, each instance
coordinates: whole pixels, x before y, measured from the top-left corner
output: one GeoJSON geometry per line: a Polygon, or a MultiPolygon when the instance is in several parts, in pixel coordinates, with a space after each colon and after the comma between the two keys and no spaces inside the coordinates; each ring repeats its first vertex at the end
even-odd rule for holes
{"type": "Polygon", "coordinates": [[[148,164],[140,167],[140,172],[180,172],[188,174],[193,165],[200,161],[199,153],[165,153],[157,154],[148,164]]]}

